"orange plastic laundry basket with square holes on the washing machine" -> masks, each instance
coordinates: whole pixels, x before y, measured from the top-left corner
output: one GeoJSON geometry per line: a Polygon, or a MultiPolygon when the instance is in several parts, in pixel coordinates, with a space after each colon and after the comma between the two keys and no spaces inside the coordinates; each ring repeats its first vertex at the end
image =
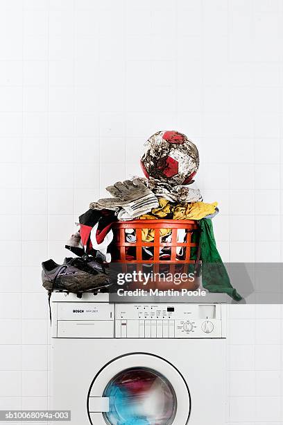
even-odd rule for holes
{"type": "MultiPolygon", "coordinates": [[[[198,247],[197,243],[191,242],[192,233],[199,231],[198,224],[194,220],[162,220],[162,219],[148,219],[148,220],[132,220],[129,222],[116,222],[112,226],[114,239],[112,247],[112,263],[122,263],[123,272],[130,272],[132,267],[135,270],[144,271],[146,265],[153,265],[155,274],[164,272],[188,273],[189,267],[196,263],[196,260],[191,260],[191,248],[198,247]],[[135,242],[127,242],[127,230],[132,229],[135,232],[135,242]],[[146,242],[142,240],[142,229],[153,229],[153,242],[146,242]],[[160,238],[161,229],[171,230],[171,242],[162,242],[160,238]],[[178,242],[178,230],[182,231],[185,238],[183,242],[178,242]],[[160,259],[160,251],[166,247],[166,252],[169,254],[165,260],[160,259]],[[151,249],[153,256],[149,259],[144,258],[143,249],[151,249]],[[178,256],[178,251],[182,249],[182,257],[178,256]],[[128,252],[131,255],[128,255],[128,252]],[[169,258],[168,258],[169,257],[169,258]],[[132,267],[131,267],[132,266],[132,267]]],[[[198,251],[199,252],[199,251],[198,251]]],[[[198,254],[199,260],[199,254],[198,254]]],[[[197,262],[198,262],[197,260],[197,262]]],[[[178,285],[178,289],[183,288],[189,290],[196,290],[200,286],[198,276],[195,280],[188,280],[186,283],[178,285]]],[[[151,281],[150,288],[172,288],[172,283],[166,284],[164,280],[151,281]]]]}

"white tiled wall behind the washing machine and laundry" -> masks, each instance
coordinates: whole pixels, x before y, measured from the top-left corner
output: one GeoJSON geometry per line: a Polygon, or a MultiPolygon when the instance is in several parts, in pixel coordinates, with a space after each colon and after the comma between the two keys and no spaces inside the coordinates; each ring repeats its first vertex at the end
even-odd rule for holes
{"type": "MultiPolygon", "coordinates": [[[[178,129],[223,259],[282,260],[281,0],[0,2],[0,408],[45,408],[40,263],[178,129]]],[[[229,425],[282,424],[282,310],[230,310],[229,425]]],[[[218,424],[210,424],[218,425],[218,424]]]]}

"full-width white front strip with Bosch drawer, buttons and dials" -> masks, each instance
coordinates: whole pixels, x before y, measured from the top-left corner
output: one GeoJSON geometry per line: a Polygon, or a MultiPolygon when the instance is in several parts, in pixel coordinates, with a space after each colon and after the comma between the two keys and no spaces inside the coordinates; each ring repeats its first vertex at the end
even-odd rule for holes
{"type": "Polygon", "coordinates": [[[225,338],[224,304],[53,302],[53,338],[225,338]]]}

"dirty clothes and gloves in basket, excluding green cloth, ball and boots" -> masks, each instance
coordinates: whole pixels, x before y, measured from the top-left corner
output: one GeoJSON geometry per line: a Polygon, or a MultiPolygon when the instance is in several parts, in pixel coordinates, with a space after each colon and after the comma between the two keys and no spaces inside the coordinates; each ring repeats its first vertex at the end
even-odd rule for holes
{"type": "MultiPolygon", "coordinates": [[[[164,188],[164,185],[162,185],[164,188]]],[[[144,178],[134,178],[132,181],[114,183],[106,188],[114,195],[113,198],[98,199],[90,203],[90,208],[78,219],[79,231],[71,235],[66,248],[78,256],[85,253],[100,258],[106,263],[111,261],[111,249],[108,249],[112,240],[112,224],[119,221],[150,220],[150,219],[174,219],[174,220],[200,220],[209,219],[218,213],[217,202],[205,203],[199,190],[186,189],[185,199],[190,201],[172,201],[172,193],[175,188],[166,185],[166,192],[160,190],[159,182],[147,181],[144,178]],[[152,189],[149,188],[151,185],[152,189]],[[170,188],[170,192],[169,192],[170,188]],[[193,191],[193,192],[191,192],[193,191]],[[170,200],[168,199],[170,198],[170,200]],[[194,201],[194,199],[198,199],[194,201]]],[[[183,242],[185,229],[179,229],[178,240],[183,242]]],[[[154,229],[142,228],[142,240],[152,242],[154,229]]],[[[160,229],[161,242],[171,242],[171,228],[160,229]]],[[[136,242],[135,229],[126,231],[127,242],[136,242]]],[[[129,258],[130,259],[130,258],[129,258]]]]}

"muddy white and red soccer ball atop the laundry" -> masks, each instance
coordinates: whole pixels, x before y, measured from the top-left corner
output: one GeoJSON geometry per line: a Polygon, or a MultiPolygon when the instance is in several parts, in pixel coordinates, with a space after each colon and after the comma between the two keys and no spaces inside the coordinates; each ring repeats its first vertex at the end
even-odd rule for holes
{"type": "Polygon", "coordinates": [[[198,171],[200,159],[196,145],[178,131],[157,131],[144,144],[141,168],[170,185],[186,185],[198,171]]]}

